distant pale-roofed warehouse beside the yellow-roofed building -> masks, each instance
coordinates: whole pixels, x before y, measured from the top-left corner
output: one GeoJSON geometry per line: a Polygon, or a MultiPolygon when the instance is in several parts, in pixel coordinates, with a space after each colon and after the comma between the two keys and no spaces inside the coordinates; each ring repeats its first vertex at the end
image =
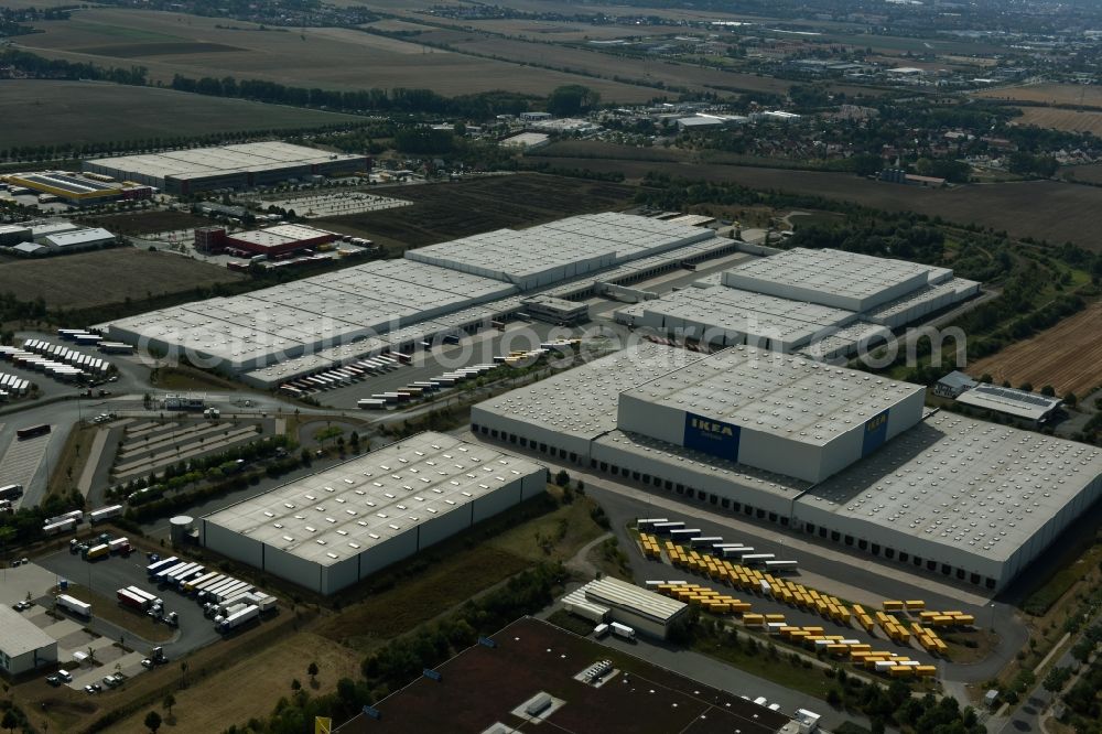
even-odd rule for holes
{"type": "Polygon", "coordinates": [[[356,173],[368,171],[370,166],[370,159],[363,155],[331,153],[283,142],[193,148],[100,158],[83,163],[86,172],[182,195],[215,188],[272,185],[316,174],[356,173]]]}

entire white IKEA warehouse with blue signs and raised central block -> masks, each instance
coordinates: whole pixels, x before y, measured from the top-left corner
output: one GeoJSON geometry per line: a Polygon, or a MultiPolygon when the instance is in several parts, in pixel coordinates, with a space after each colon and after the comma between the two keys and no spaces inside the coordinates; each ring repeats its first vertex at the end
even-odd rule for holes
{"type": "Polygon", "coordinates": [[[922,395],[799,355],[645,344],[487,400],[471,422],[490,440],[1001,589],[1102,495],[1102,451],[923,419],[922,395]]]}

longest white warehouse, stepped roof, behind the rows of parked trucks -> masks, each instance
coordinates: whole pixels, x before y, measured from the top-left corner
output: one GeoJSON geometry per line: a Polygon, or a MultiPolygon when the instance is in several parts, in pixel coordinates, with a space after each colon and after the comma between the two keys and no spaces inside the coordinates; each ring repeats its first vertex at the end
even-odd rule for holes
{"type": "Polygon", "coordinates": [[[269,388],[295,375],[487,327],[522,312],[532,289],[577,296],[736,247],[707,228],[625,214],[584,215],[410,250],[402,259],[152,311],[100,328],[112,341],[187,357],[269,388]]]}

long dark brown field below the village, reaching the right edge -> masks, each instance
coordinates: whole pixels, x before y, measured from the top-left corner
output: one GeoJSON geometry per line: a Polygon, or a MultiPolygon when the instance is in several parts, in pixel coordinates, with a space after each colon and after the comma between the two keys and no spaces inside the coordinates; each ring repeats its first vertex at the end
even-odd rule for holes
{"type": "Polygon", "coordinates": [[[639,180],[648,171],[669,173],[690,180],[732,182],[755,188],[776,188],[827,198],[851,201],[892,212],[918,212],[941,216],[947,222],[974,223],[1015,237],[1034,237],[1054,244],[1076,242],[1099,250],[1094,237],[1095,215],[1102,209],[1102,190],[1055,181],[1011,182],[921,188],[869,181],[845,173],[786,171],[706,163],[665,163],[594,160],[588,158],[548,158],[553,165],[618,171],[627,180],[639,180]]]}

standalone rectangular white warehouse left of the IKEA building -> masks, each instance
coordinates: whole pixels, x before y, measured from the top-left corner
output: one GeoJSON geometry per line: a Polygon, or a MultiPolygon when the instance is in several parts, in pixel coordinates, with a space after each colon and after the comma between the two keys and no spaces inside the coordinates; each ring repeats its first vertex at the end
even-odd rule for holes
{"type": "Polygon", "coordinates": [[[201,520],[202,543],[332,594],[547,489],[547,469],[421,433],[201,520]]]}

